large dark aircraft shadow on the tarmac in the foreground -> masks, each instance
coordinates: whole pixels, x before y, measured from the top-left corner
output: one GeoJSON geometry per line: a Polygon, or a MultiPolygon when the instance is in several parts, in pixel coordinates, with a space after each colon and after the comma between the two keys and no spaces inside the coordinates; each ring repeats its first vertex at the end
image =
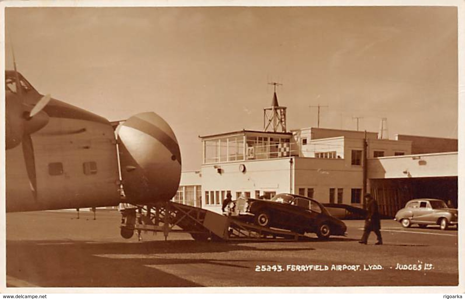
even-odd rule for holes
{"type": "MultiPolygon", "coordinates": [[[[295,244],[295,243],[294,243],[295,244]]],[[[147,265],[209,264],[249,268],[271,260],[201,258],[202,253],[228,251],[310,251],[314,248],[257,248],[193,240],[105,243],[93,241],[7,241],[7,275],[44,287],[194,287],[202,286],[147,265]],[[162,254],[179,254],[166,257],[162,254]],[[196,258],[183,254],[198,253],[196,258]],[[157,256],[160,254],[160,256],[157,256]],[[102,256],[104,255],[104,256],[102,256]],[[114,257],[111,257],[113,255],[114,257]],[[130,256],[129,256],[130,255],[130,256]]]]}

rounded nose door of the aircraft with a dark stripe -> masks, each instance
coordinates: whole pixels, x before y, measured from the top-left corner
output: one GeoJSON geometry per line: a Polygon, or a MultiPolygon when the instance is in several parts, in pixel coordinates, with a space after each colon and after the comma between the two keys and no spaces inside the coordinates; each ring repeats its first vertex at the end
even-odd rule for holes
{"type": "Polygon", "coordinates": [[[168,123],[153,112],[140,113],[120,124],[116,132],[126,202],[171,200],[179,187],[181,155],[168,123]]]}

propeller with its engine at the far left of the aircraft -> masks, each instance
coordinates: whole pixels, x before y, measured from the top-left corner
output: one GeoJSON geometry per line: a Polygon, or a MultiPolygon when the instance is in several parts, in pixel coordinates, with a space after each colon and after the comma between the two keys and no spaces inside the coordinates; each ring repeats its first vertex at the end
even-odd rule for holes
{"type": "Polygon", "coordinates": [[[49,121],[49,116],[44,107],[50,102],[50,95],[43,96],[35,105],[27,104],[26,97],[23,95],[20,82],[20,75],[16,69],[16,60],[13,54],[13,66],[15,74],[16,93],[7,92],[5,98],[6,108],[6,148],[12,149],[20,143],[22,145],[24,162],[26,164],[27,177],[37,201],[37,177],[35,170],[34,148],[31,134],[42,129],[49,121]]]}

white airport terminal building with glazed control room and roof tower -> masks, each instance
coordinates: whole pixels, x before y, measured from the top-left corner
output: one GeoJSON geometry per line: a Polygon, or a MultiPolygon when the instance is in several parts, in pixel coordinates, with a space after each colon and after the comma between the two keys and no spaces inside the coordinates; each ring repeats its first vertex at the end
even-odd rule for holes
{"type": "Polygon", "coordinates": [[[200,170],[182,172],[173,201],[221,213],[227,193],[271,198],[277,193],[363,207],[371,192],[392,216],[412,198],[440,198],[457,207],[458,141],[376,132],[286,130],[286,107],[264,109],[264,130],[200,136],[200,170]]]}

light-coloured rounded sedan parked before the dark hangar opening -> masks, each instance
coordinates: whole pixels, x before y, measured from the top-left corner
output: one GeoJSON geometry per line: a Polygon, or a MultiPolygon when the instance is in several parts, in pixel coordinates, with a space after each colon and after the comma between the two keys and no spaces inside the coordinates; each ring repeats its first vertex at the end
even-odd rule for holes
{"type": "Polygon", "coordinates": [[[428,224],[439,224],[441,230],[446,230],[449,225],[458,227],[458,211],[449,208],[440,199],[419,198],[407,202],[405,208],[397,212],[394,220],[405,228],[412,224],[418,224],[422,228],[428,224]]]}

